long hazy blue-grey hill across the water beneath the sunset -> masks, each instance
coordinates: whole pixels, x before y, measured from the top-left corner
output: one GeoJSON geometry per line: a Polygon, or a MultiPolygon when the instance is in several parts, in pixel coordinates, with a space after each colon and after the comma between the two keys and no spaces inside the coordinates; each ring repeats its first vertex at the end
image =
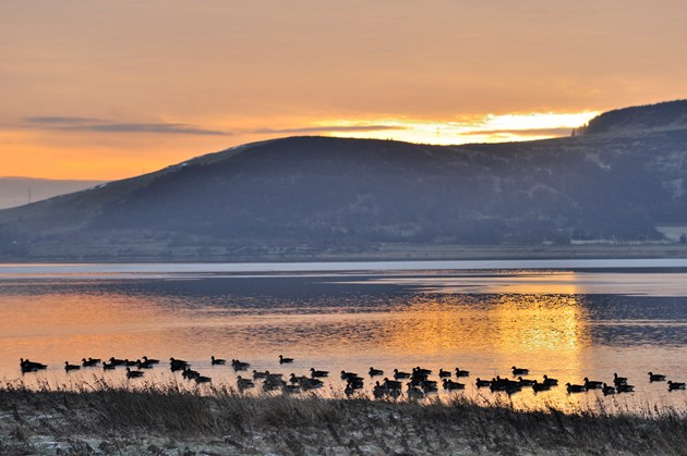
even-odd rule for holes
{"type": "Polygon", "coordinates": [[[389,244],[661,242],[656,227],[687,226],[687,102],[661,107],[612,111],[584,134],[530,143],[249,144],[2,210],[0,255],[302,259],[389,244]]]}

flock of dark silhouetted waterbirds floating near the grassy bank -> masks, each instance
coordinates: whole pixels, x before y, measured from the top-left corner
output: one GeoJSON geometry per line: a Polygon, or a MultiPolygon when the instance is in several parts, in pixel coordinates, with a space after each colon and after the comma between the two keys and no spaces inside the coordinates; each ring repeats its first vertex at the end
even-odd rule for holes
{"type": "MultiPolygon", "coordinates": [[[[114,357],[106,361],[103,361],[99,358],[83,358],[81,365],[72,365],[69,361],[64,361],[64,370],[70,372],[82,368],[95,368],[100,366],[104,370],[114,370],[118,367],[124,367],[126,371],[126,379],[136,379],[144,377],[146,369],[152,369],[159,363],[160,361],[158,359],[150,359],[147,356],[136,359],[135,361],[131,361],[129,359],[117,359],[114,357]]],[[[210,363],[213,366],[224,366],[227,363],[227,360],[212,356],[210,363]]],[[[291,363],[293,363],[293,358],[286,358],[282,355],[279,355],[280,366],[291,363]]],[[[48,366],[22,358],[20,360],[20,367],[22,373],[27,373],[47,369],[48,366]]],[[[231,368],[237,373],[243,371],[248,372],[250,367],[251,365],[249,362],[240,361],[238,359],[231,360],[231,368]]],[[[191,369],[191,365],[182,359],[170,358],[169,368],[172,372],[180,371],[184,379],[194,381],[197,384],[212,382],[209,377],[202,375],[198,371],[191,369]]],[[[549,391],[558,385],[558,380],[552,379],[546,374],[543,375],[541,381],[523,378],[523,375],[528,375],[530,373],[530,370],[526,368],[513,366],[510,371],[513,373],[511,379],[502,378],[499,375],[496,375],[491,380],[477,378],[474,385],[478,389],[489,387],[492,392],[505,392],[507,394],[515,394],[523,387],[531,387],[533,392],[538,393],[549,391]]],[[[461,383],[459,380],[470,377],[469,371],[461,370],[459,368],[454,370],[439,369],[437,372],[438,380],[431,380],[430,377],[433,374],[433,371],[430,369],[423,369],[419,366],[413,368],[410,372],[394,369],[394,371],[387,377],[383,377],[385,373],[382,369],[375,369],[373,367],[371,367],[366,373],[371,381],[374,381],[374,384],[372,385],[372,393],[378,398],[387,396],[398,397],[402,394],[403,386],[406,386],[406,394],[410,398],[425,397],[430,393],[437,392],[439,386],[446,391],[465,390],[466,383],[461,383]],[[389,377],[393,378],[393,380],[389,377]],[[383,378],[383,380],[375,380],[375,378],[383,378]],[[454,380],[454,378],[456,380],[454,380]]],[[[666,375],[662,373],[649,372],[648,375],[649,382],[651,383],[665,382],[667,380],[666,375]]],[[[274,373],[268,370],[257,371],[253,369],[252,378],[244,378],[241,374],[237,375],[237,387],[240,391],[245,391],[256,387],[257,383],[262,382],[261,387],[265,392],[280,390],[285,393],[296,393],[324,386],[323,379],[327,377],[329,377],[328,371],[311,368],[310,375],[296,375],[294,373],[291,373],[290,377],[285,380],[285,375],[282,373],[274,373]]],[[[357,391],[363,390],[365,386],[365,379],[355,372],[347,372],[342,370],[340,372],[340,378],[346,381],[346,389],[343,390],[346,395],[350,396],[357,391]]],[[[566,383],[565,387],[568,394],[582,393],[590,390],[601,390],[604,395],[610,395],[617,393],[631,393],[635,390],[635,385],[629,384],[627,378],[618,377],[617,373],[613,374],[612,384],[610,383],[611,382],[605,383],[584,378],[583,383],[566,383]]],[[[685,390],[684,382],[667,380],[666,384],[668,391],[685,390]]]]}

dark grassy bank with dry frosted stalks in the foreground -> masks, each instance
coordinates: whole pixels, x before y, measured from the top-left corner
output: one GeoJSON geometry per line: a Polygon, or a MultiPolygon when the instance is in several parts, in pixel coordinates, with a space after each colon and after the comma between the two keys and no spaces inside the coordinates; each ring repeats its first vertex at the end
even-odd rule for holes
{"type": "Polygon", "coordinates": [[[0,454],[684,454],[687,418],[148,391],[0,390],[0,454]]]}

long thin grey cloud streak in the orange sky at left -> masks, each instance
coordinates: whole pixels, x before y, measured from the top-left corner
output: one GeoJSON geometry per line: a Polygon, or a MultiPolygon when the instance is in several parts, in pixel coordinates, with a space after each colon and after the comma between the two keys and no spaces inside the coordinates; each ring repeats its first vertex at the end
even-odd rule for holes
{"type": "MultiPolygon", "coordinates": [[[[93,118],[59,115],[24,118],[24,123],[48,130],[96,133],[164,133],[178,135],[228,135],[227,132],[200,128],[181,123],[114,123],[93,118]]],[[[26,125],[25,125],[26,126],[26,125]]]]}

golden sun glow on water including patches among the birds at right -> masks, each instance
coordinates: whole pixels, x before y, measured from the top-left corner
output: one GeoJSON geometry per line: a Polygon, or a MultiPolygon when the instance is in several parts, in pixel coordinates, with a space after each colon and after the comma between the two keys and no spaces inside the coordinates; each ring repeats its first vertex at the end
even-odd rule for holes
{"type": "MultiPolygon", "coordinates": [[[[517,406],[574,408],[595,399],[594,393],[568,396],[564,386],[593,372],[589,316],[575,295],[430,295],[386,320],[391,337],[382,345],[397,359],[422,360],[435,370],[469,369],[470,383],[475,377],[510,377],[511,366],[529,368],[530,379],[546,373],[562,381],[545,394],[526,389],[509,399],[517,406]]],[[[482,398],[484,391],[469,385],[465,394],[482,398]]]]}

